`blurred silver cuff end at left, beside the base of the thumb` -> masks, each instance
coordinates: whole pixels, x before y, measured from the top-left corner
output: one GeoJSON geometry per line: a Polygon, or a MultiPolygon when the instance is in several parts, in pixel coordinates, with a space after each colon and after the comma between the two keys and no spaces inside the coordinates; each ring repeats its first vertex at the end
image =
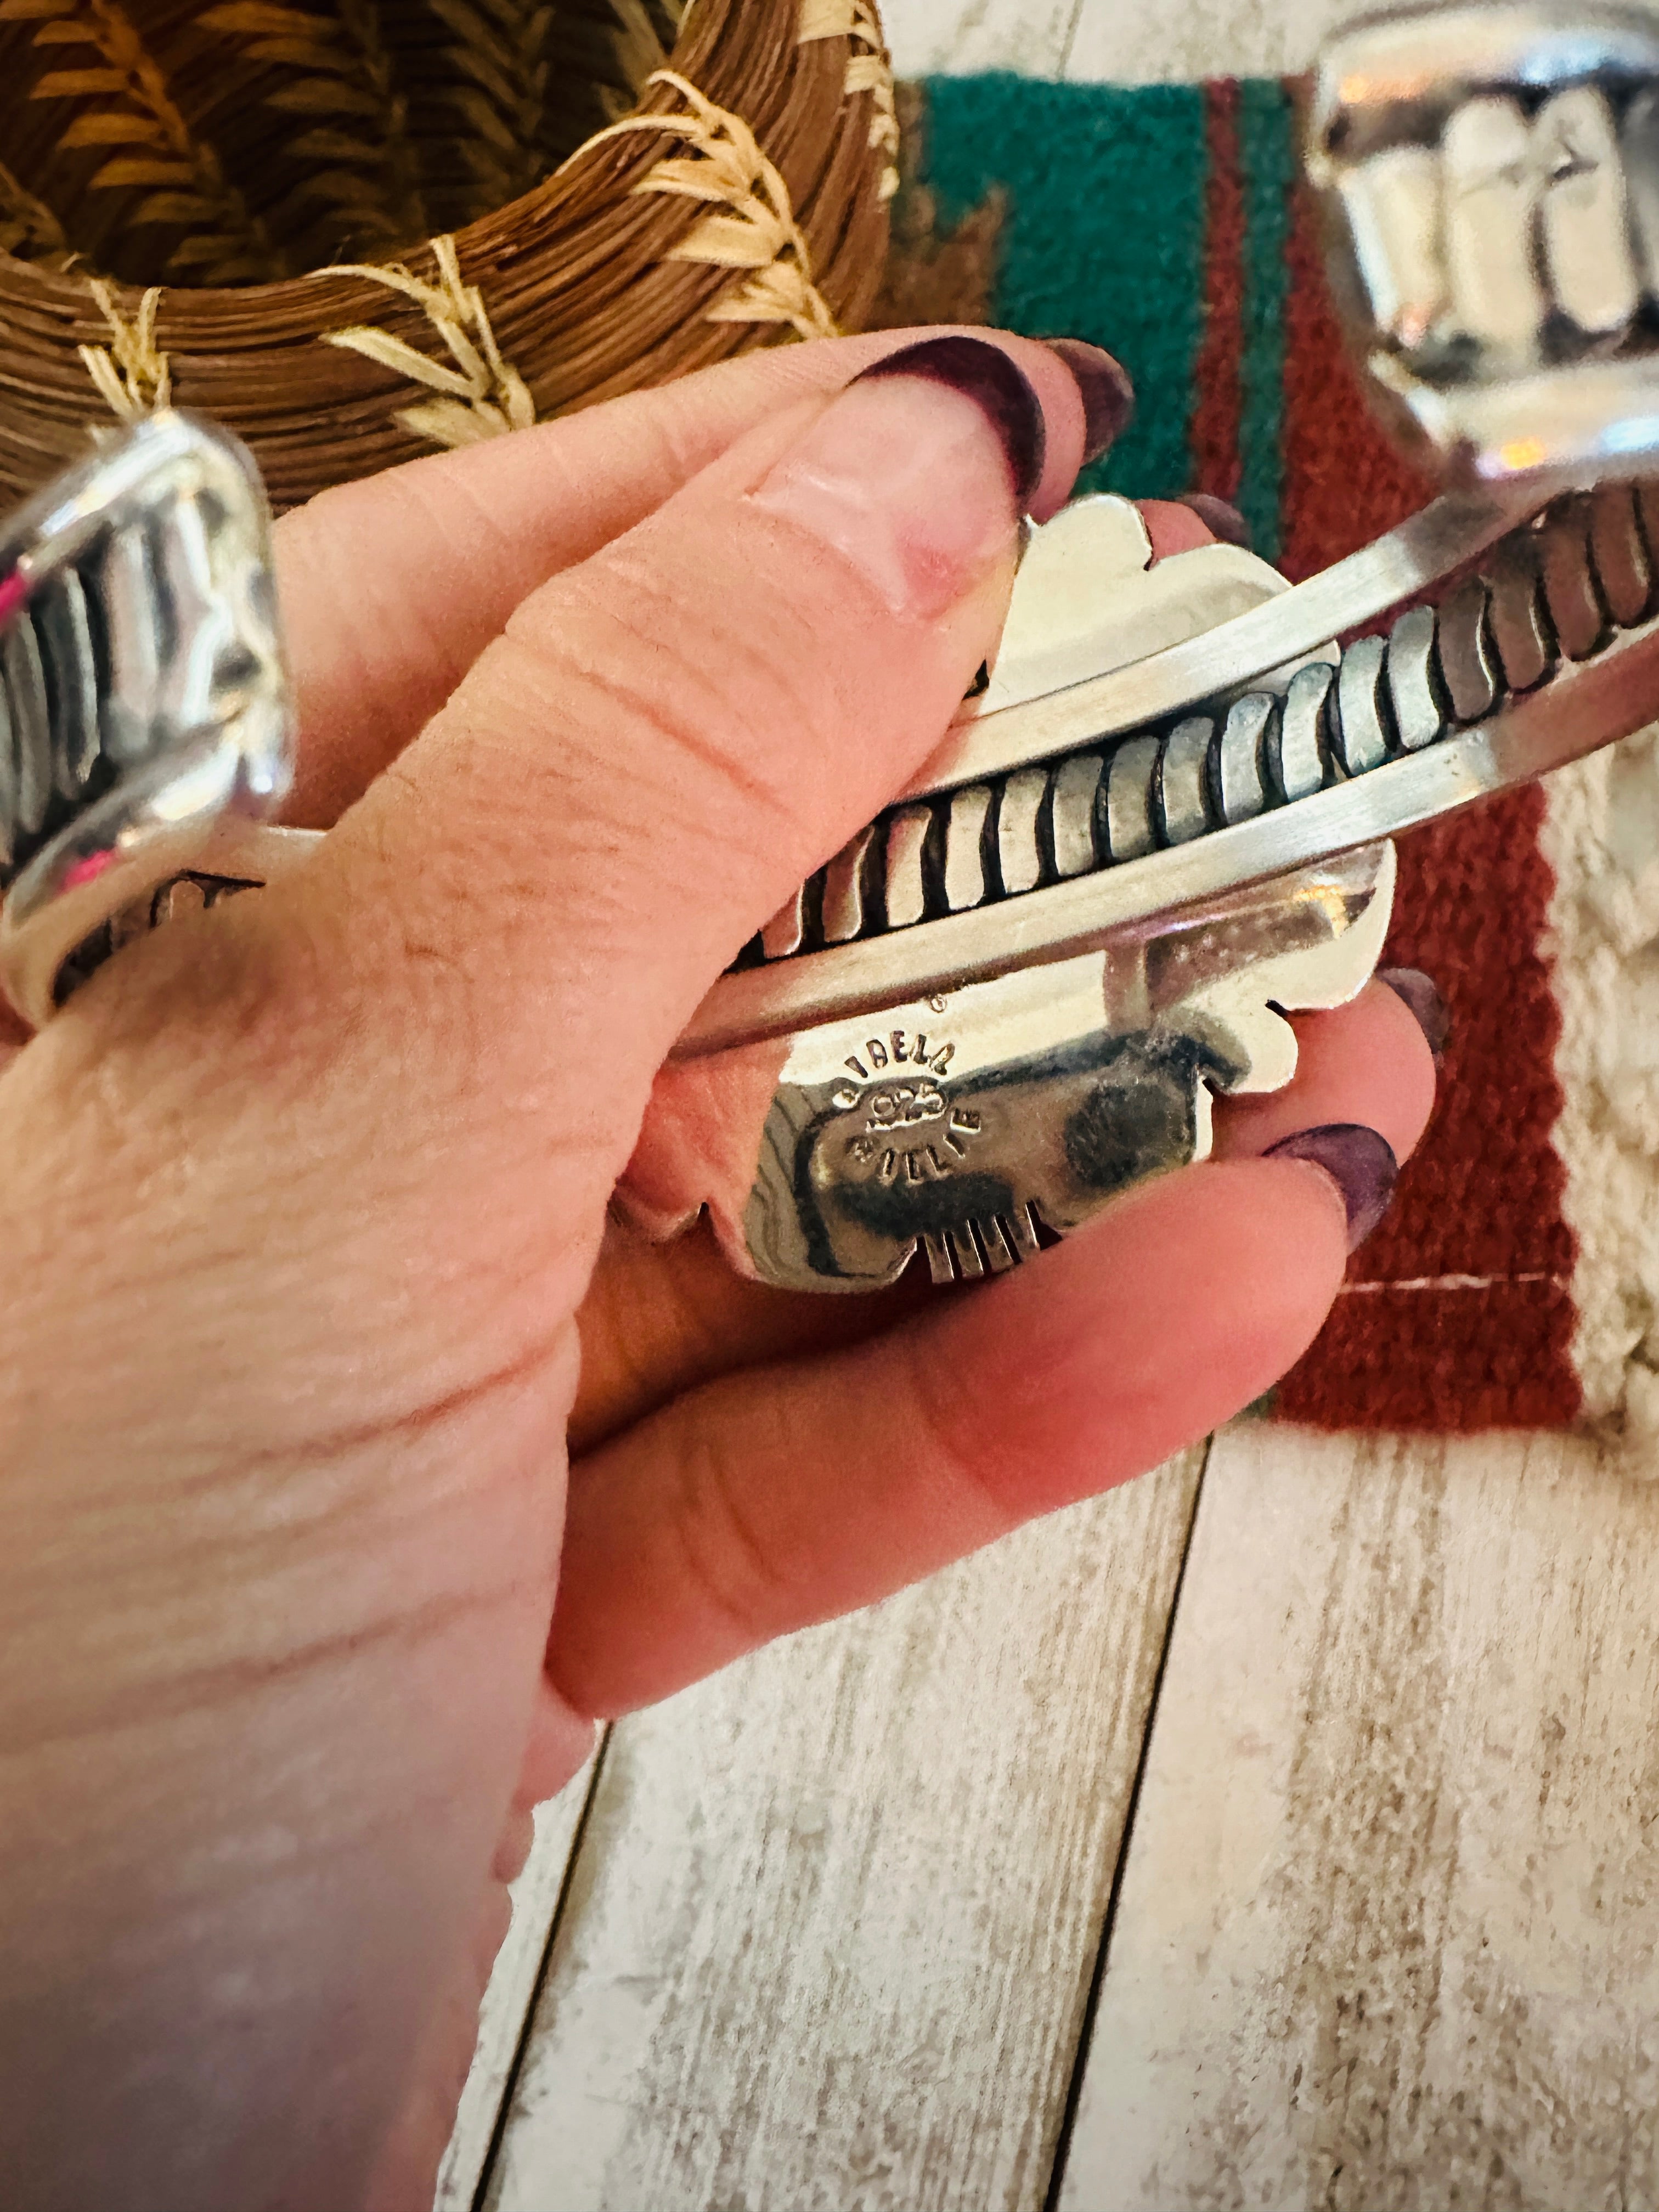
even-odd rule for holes
{"type": "Polygon", "coordinates": [[[259,473],[164,411],[0,529],[0,982],[51,1018],[117,918],[292,776],[259,473]]]}

